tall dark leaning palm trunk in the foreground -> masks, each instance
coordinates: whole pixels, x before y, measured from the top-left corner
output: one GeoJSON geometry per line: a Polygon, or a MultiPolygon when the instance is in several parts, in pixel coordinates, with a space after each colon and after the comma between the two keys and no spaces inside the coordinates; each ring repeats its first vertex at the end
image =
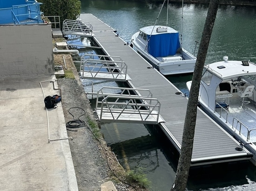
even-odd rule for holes
{"type": "Polygon", "coordinates": [[[210,0],[209,2],[207,18],[202,32],[189,92],[189,102],[184,122],[180,159],[171,191],[185,191],[186,189],[192,159],[199,86],[219,3],[220,0],[210,0]]]}

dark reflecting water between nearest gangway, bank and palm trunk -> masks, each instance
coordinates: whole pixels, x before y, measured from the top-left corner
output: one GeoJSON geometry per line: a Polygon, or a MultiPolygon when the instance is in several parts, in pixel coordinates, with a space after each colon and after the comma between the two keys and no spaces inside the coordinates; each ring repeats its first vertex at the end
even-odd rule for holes
{"type": "Polygon", "coordinates": [[[120,164],[131,170],[141,167],[152,182],[152,190],[164,191],[172,185],[178,159],[175,148],[170,147],[159,128],[123,123],[101,125],[120,164]]]}

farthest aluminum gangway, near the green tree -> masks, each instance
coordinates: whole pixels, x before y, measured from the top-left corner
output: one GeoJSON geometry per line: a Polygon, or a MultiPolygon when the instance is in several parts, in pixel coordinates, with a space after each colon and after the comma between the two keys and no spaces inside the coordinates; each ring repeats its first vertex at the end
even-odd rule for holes
{"type": "Polygon", "coordinates": [[[62,27],[63,35],[76,35],[81,37],[92,37],[93,26],[82,20],[64,20],[62,27]]]}

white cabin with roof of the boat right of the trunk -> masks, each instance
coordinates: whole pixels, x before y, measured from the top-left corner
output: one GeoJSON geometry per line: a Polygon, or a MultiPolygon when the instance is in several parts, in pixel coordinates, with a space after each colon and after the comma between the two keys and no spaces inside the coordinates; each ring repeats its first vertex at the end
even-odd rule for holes
{"type": "Polygon", "coordinates": [[[212,110],[227,108],[229,98],[256,100],[256,64],[249,61],[228,61],[204,66],[199,99],[212,110]]]}

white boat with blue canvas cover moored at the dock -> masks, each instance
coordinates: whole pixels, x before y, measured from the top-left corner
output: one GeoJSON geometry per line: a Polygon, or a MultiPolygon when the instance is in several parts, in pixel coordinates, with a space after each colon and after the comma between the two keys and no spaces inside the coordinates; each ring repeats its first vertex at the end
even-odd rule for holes
{"type": "Polygon", "coordinates": [[[181,47],[179,32],[171,27],[143,27],[132,36],[131,43],[163,75],[194,72],[196,57],[181,47]]]}

